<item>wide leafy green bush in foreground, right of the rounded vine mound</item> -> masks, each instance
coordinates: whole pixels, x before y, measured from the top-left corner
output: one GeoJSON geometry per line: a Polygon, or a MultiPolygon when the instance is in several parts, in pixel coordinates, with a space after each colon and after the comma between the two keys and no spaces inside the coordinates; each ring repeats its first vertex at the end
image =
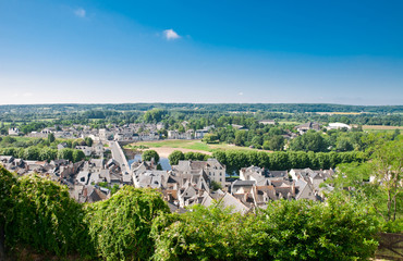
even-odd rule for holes
{"type": "Polygon", "coordinates": [[[195,206],[154,222],[154,260],[365,260],[377,248],[377,223],[365,207],[279,200],[256,215],[220,203],[195,206]]]}

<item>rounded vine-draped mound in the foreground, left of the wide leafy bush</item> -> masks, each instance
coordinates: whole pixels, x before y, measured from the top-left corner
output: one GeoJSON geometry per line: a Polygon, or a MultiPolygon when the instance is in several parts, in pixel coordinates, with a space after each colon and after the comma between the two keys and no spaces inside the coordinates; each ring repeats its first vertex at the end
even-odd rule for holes
{"type": "Polygon", "coordinates": [[[87,206],[86,221],[103,260],[146,260],[152,253],[152,220],[169,209],[160,194],[124,186],[109,200],[87,206]]]}

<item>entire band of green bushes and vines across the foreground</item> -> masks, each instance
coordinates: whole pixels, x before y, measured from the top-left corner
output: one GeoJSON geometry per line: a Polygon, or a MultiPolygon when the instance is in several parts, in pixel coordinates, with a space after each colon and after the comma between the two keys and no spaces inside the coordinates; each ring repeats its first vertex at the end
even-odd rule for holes
{"type": "Polygon", "coordinates": [[[376,212],[340,192],[326,203],[273,201],[257,214],[220,202],[170,214],[157,190],[125,186],[83,208],[66,187],[0,171],[0,213],[9,210],[12,247],[102,260],[366,260],[377,248],[376,212]]]}

